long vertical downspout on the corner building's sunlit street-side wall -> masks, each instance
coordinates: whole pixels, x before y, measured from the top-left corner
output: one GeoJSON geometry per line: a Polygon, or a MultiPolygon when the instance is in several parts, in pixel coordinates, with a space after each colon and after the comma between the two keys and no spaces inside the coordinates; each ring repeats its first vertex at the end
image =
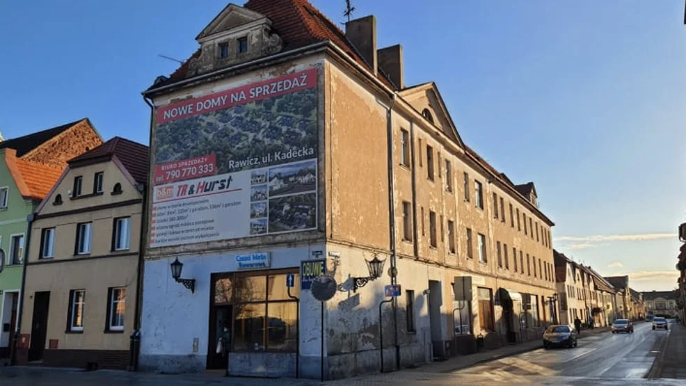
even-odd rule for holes
{"type": "MultiPolygon", "coordinates": [[[[387,140],[388,140],[388,225],[390,230],[390,266],[391,266],[391,276],[390,283],[396,285],[398,283],[397,278],[397,250],[395,246],[395,184],[394,184],[394,163],[393,163],[393,108],[397,100],[397,94],[393,93],[393,99],[387,110],[387,140]]],[[[398,299],[393,298],[393,329],[395,334],[395,367],[397,370],[400,369],[400,344],[398,339],[398,299]]],[[[383,348],[381,348],[383,350],[383,348]]]]}

